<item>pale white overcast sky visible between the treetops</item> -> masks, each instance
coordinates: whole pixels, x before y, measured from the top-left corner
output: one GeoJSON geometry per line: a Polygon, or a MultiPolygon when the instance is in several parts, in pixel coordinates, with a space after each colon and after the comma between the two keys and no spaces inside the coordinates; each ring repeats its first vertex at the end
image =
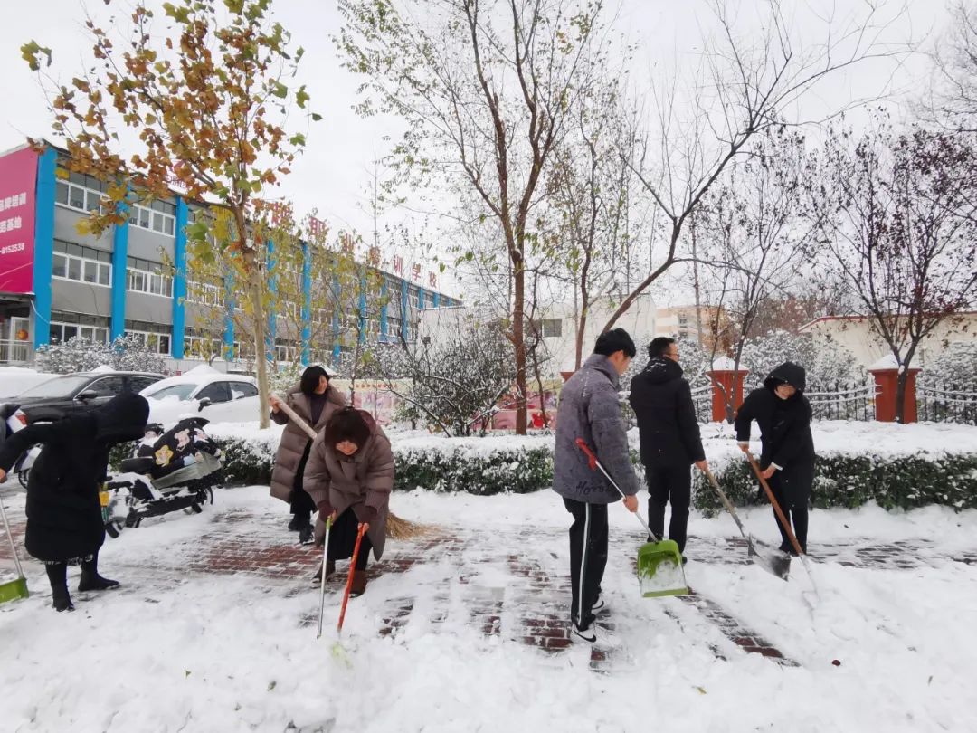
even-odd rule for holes
{"type": "MultiPolygon", "coordinates": [[[[739,8],[744,29],[748,30],[756,7],[764,1],[733,0],[731,5],[739,8]]],[[[115,0],[112,6],[117,4],[115,0]]],[[[793,16],[799,27],[810,26],[812,33],[818,26],[810,20],[812,12],[833,8],[835,15],[843,18],[866,6],[866,0],[785,3],[787,15],[793,16]]],[[[52,69],[69,79],[71,66],[81,63],[82,52],[91,45],[84,33],[83,7],[74,0],[31,0],[18,3],[16,12],[8,10],[5,14],[0,37],[0,151],[21,145],[25,136],[40,137],[50,130],[44,95],[36,76],[21,60],[21,44],[35,39],[54,48],[52,69]]],[[[91,0],[87,7],[97,18],[106,14],[101,0],[91,0]]],[[[324,116],[310,131],[307,151],[294,166],[282,193],[294,199],[300,215],[318,207],[319,217],[334,231],[357,229],[366,235],[372,230],[364,194],[370,181],[371,161],[387,150],[390,143],[385,136],[396,137],[398,124],[382,118],[361,119],[351,109],[358,81],[340,67],[330,40],[340,24],[334,2],[276,0],[274,7],[276,17],[292,30],[296,44],[306,49],[303,81],[309,86],[312,107],[324,116]]],[[[896,8],[897,4],[891,3],[891,7],[896,8]]],[[[707,30],[709,22],[707,8],[704,0],[620,2],[616,26],[639,45],[632,74],[636,88],[644,86],[643,79],[655,69],[684,68],[696,63],[702,30],[707,30]]],[[[944,0],[906,0],[905,8],[905,12],[889,13],[897,16],[888,31],[893,41],[924,35],[932,39],[948,17],[944,0]]],[[[810,108],[793,111],[817,116],[822,109],[843,106],[853,98],[882,89],[905,93],[920,83],[925,74],[924,62],[922,58],[911,60],[895,73],[891,64],[863,65],[819,88],[807,103],[810,108]]],[[[394,212],[387,215],[387,220],[395,223],[403,217],[404,214],[394,212]]]]}

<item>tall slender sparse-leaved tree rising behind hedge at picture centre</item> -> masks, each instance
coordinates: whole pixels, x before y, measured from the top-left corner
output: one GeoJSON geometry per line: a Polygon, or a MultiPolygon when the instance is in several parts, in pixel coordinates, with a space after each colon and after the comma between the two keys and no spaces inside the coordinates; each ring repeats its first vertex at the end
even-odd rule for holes
{"type": "MultiPolygon", "coordinates": [[[[527,427],[527,254],[532,211],[577,101],[606,44],[602,0],[340,0],[339,46],[384,111],[407,122],[394,151],[405,174],[476,194],[511,268],[516,430],[527,427]]],[[[361,111],[373,111],[370,103],[361,111]]]]}

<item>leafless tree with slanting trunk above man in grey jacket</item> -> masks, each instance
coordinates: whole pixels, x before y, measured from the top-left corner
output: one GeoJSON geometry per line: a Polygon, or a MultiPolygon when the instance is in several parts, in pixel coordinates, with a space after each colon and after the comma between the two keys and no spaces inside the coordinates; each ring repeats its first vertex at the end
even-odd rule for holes
{"type": "MultiPolygon", "coordinates": [[[[634,300],[682,259],[679,247],[686,223],[754,136],[784,124],[789,111],[839,71],[872,59],[897,61],[911,51],[910,45],[889,43],[885,37],[900,9],[883,18],[883,3],[867,3],[861,17],[838,21],[832,13],[818,18],[822,40],[815,43],[798,39],[800,30],[787,22],[781,0],[768,0],[765,11],[759,11],[760,30],[749,36],[755,41],[738,32],[732,4],[725,0],[711,4],[718,36],[703,39],[702,65],[686,97],[677,76],[653,87],[655,132],[634,163],[666,223],[664,256],[623,298],[605,330],[613,328],[634,300]]],[[[811,31],[806,24],[803,32],[811,31]]],[[[828,110],[819,115],[820,121],[864,103],[853,100],[828,110]]]]}

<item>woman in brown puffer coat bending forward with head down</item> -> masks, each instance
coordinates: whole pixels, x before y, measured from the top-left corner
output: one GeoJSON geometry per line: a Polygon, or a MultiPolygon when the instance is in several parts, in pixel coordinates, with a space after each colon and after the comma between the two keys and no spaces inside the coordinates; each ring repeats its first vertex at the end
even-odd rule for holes
{"type": "MultiPolygon", "coordinates": [[[[390,492],[394,488],[394,453],[383,430],[369,412],[336,410],[312,445],[305,468],[304,486],[319,508],[317,539],[324,539],[325,518],[332,516],[325,575],[336,570],[336,560],[353,556],[357,532],[365,525],[351,593],[366,589],[369,550],[377,560],[386,541],[390,492]]],[[[315,581],[321,576],[321,567],[315,581]]]]}

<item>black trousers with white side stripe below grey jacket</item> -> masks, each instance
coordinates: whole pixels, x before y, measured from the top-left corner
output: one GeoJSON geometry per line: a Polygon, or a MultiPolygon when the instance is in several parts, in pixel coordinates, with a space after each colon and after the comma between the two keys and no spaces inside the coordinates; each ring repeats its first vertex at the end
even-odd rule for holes
{"type": "Polygon", "coordinates": [[[594,623],[591,611],[601,594],[601,581],[608,564],[608,505],[564,498],[573,514],[570,526],[570,586],[573,600],[570,615],[580,628],[594,623]]]}

